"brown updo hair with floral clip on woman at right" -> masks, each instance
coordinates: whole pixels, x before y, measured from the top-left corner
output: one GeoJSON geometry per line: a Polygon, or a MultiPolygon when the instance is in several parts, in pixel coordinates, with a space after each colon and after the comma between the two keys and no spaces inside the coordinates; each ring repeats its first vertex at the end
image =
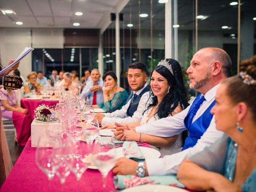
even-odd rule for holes
{"type": "Polygon", "coordinates": [[[256,55],[240,63],[240,73],[223,82],[234,104],[244,102],[256,121],[256,55]]]}

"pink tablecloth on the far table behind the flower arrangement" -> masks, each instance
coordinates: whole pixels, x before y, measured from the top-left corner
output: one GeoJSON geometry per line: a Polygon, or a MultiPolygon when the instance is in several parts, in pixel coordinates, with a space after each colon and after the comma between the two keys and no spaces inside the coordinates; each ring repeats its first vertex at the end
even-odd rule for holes
{"type": "Polygon", "coordinates": [[[48,105],[48,106],[53,106],[58,103],[58,101],[43,101],[43,100],[27,100],[26,98],[22,98],[20,100],[20,105],[23,108],[27,108],[28,109],[28,115],[30,116],[30,124],[32,123],[32,121],[34,120],[34,110],[38,107],[38,105],[48,105]]]}

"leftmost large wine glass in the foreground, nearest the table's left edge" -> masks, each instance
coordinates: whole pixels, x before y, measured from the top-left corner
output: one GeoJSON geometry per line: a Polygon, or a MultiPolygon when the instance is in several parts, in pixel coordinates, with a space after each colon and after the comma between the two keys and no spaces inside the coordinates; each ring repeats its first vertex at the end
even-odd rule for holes
{"type": "Polygon", "coordinates": [[[54,177],[58,166],[58,164],[54,164],[54,148],[60,148],[58,139],[53,142],[50,138],[39,137],[35,161],[38,168],[47,175],[49,181],[54,177]]]}

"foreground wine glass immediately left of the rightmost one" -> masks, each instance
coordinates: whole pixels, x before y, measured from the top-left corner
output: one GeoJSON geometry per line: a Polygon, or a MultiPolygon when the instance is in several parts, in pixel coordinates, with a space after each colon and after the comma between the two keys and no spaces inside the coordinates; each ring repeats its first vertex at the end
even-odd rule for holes
{"type": "Polygon", "coordinates": [[[64,148],[65,162],[79,181],[91,162],[89,145],[86,142],[72,142],[68,139],[64,148]]]}

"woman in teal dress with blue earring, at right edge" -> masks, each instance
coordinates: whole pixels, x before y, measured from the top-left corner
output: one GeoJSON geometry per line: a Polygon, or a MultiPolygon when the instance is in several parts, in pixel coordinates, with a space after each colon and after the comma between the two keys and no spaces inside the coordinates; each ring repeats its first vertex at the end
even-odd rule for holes
{"type": "MultiPolygon", "coordinates": [[[[242,69],[242,67],[241,67],[242,69]]],[[[226,133],[209,148],[185,160],[178,179],[192,190],[256,190],[256,56],[238,76],[217,90],[216,128],[226,133]]]]}

